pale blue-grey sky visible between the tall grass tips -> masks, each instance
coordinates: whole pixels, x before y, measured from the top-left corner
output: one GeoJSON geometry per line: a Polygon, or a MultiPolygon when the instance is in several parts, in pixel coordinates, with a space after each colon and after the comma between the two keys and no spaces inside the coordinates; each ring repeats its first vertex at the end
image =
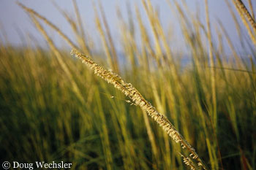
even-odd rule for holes
{"type": "MultiPolygon", "coordinates": [[[[18,1],[18,0],[17,0],[18,1]]],[[[53,1],[53,0],[52,0],[53,1]]],[[[71,39],[75,37],[72,34],[72,30],[64,19],[64,17],[59,13],[56,7],[53,6],[51,0],[20,0],[21,3],[26,5],[26,7],[30,7],[34,9],[39,14],[48,18],[52,23],[61,28],[67,36],[71,39]]],[[[74,9],[72,5],[72,0],[54,0],[56,4],[58,4],[61,9],[69,12],[69,14],[74,14],[74,9]]],[[[94,0],[97,4],[97,0],[94,0]]],[[[120,34],[118,29],[118,18],[116,16],[116,6],[121,7],[121,12],[125,17],[127,17],[127,1],[128,0],[101,0],[102,6],[105,10],[105,15],[110,25],[111,34],[113,34],[113,39],[118,42],[118,35],[120,34]]],[[[172,1],[172,0],[171,0],[172,1]]],[[[176,14],[171,12],[170,7],[167,5],[166,0],[151,0],[152,4],[156,5],[159,9],[161,22],[166,28],[168,26],[173,27],[173,32],[177,36],[181,36],[181,32],[178,28],[178,18],[175,16],[176,14]]],[[[96,42],[99,42],[97,38],[98,32],[94,23],[94,9],[93,9],[93,0],[77,0],[79,11],[83,18],[84,27],[87,32],[95,39],[96,42]]],[[[211,26],[214,28],[216,25],[217,19],[221,20],[224,23],[225,28],[228,30],[228,34],[232,37],[233,41],[238,41],[238,36],[236,33],[236,28],[233,19],[230,16],[230,12],[227,9],[227,5],[224,0],[208,0],[209,3],[209,12],[211,18],[211,26]]],[[[143,20],[146,19],[145,12],[143,13],[143,6],[140,0],[129,0],[129,4],[133,7],[133,4],[137,4],[140,10],[142,11],[143,20]]],[[[202,14],[202,18],[204,18],[204,1],[203,0],[187,0],[187,4],[189,9],[192,12],[197,12],[200,9],[200,13],[202,14]]],[[[254,7],[256,8],[256,3],[254,2],[254,7]]],[[[23,9],[20,9],[17,4],[15,4],[15,0],[0,0],[0,38],[3,39],[3,31],[4,34],[7,34],[8,42],[14,46],[23,46],[24,42],[20,41],[20,32],[24,35],[30,34],[35,39],[37,39],[40,43],[43,39],[39,34],[34,25],[31,23],[30,18],[26,15],[26,12],[23,9]]],[[[50,36],[55,40],[56,45],[59,47],[64,45],[64,42],[59,38],[54,31],[47,29],[50,33],[50,36]]],[[[178,43],[178,42],[177,42],[178,43]]],[[[118,43],[117,43],[118,44],[118,43]]]]}

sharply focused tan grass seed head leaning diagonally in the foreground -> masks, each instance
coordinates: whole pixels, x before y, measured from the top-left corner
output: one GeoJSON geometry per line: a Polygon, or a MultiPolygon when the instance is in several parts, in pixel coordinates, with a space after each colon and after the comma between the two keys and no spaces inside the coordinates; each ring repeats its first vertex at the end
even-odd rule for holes
{"type": "Polygon", "coordinates": [[[114,85],[114,87],[124,93],[125,96],[128,96],[132,99],[132,101],[140,106],[140,108],[148,113],[148,115],[153,118],[159,126],[161,126],[164,131],[177,143],[181,144],[183,149],[187,149],[189,151],[189,156],[197,161],[197,165],[206,169],[203,161],[198,157],[195,149],[191,147],[191,145],[184,139],[181,134],[178,133],[176,128],[173,126],[172,123],[165,117],[165,115],[160,114],[157,112],[157,109],[153,107],[145,98],[140,94],[140,92],[132,86],[132,84],[124,82],[118,74],[112,72],[111,70],[106,70],[99,66],[97,63],[94,63],[88,56],[79,53],[77,50],[71,51],[72,55],[79,58],[83,63],[86,63],[87,66],[91,70],[94,71],[94,74],[101,77],[103,80],[107,81],[108,83],[114,85]]]}

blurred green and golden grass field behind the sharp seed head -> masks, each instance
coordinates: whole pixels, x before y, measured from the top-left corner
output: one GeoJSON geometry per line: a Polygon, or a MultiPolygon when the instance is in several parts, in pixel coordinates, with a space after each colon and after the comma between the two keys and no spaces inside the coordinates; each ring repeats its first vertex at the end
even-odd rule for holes
{"type": "Polygon", "coordinates": [[[170,1],[170,8],[181,18],[189,51],[184,54],[173,53],[168,44],[171,39],[151,2],[141,3],[144,9],[132,7],[133,20],[122,22],[124,58],[118,56],[100,5],[95,8],[97,31],[91,34],[100,35],[103,48],[95,52],[93,40],[85,38],[75,1],[76,20],[62,12],[76,42],[50,23],[50,18],[20,4],[49,50],[36,42],[36,47],[0,45],[0,160],[64,161],[72,163],[72,169],[202,169],[189,150],[170,138],[132,97],[124,96],[70,55],[73,48],[131,83],[195,148],[206,169],[256,169],[256,23],[252,7],[246,9],[238,0],[230,3],[234,29],[241,40],[236,43],[250,49],[241,55],[221,23],[217,30],[210,26],[207,0],[203,23],[188,15],[185,2],[170,1]],[[140,16],[142,10],[149,31],[140,16]],[[71,48],[58,49],[42,23],[71,48]],[[132,29],[133,25],[138,29],[132,29]],[[212,40],[215,31],[217,42],[212,40]],[[225,53],[224,45],[232,55],[225,53]]]}

